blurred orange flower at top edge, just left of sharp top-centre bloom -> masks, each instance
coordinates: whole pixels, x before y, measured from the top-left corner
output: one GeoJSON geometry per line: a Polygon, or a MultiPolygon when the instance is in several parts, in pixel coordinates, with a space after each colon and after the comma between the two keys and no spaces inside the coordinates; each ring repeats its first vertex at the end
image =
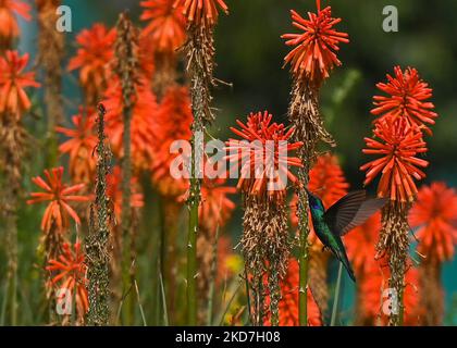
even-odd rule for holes
{"type": "Polygon", "coordinates": [[[174,53],[186,39],[183,7],[173,8],[175,0],[148,0],[140,4],[145,10],[143,21],[150,21],[143,34],[151,37],[157,52],[174,53]]]}

